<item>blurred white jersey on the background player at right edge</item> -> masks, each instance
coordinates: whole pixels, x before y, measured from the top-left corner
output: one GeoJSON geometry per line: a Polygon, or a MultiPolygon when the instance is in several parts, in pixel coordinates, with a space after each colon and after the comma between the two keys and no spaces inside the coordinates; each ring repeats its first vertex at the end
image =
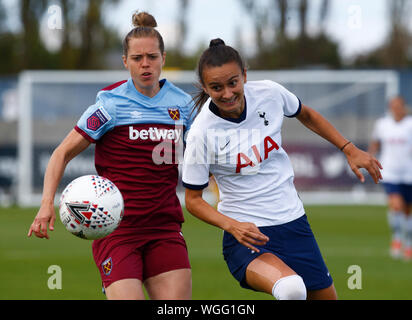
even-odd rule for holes
{"type": "Polygon", "coordinates": [[[391,116],[379,119],[372,139],[381,144],[382,181],[412,184],[412,116],[399,122],[391,116]]]}

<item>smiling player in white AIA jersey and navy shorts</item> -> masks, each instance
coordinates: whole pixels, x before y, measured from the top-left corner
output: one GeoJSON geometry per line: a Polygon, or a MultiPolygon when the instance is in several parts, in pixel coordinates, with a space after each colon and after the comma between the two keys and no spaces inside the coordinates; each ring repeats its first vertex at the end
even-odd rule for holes
{"type": "Polygon", "coordinates": [[[283,117],[296,117],[341,149],[361,181],[363,167],[378,182],[379,162],[281,85],[246,82],[242,58],[220,39],[202,54],[198,76],[200,111],[183,164],[187,209],[225,231],[223,255],[242,287],[280,300],[336,299],[282,148],[283,117]],[[202,199],[209,173],[220,191],[217,210],[202,199]]]}

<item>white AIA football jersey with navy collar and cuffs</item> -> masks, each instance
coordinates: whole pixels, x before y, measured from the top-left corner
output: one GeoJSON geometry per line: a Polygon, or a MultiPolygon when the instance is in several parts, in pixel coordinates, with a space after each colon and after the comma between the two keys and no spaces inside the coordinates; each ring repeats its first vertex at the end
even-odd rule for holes
{"type": "Polygon", "coordinates": [[[292,164],[282,148],[284,116],[300,112],[299,99],[272,81],[245,84],[239,119],[224,119],[209,99],[187,137],[183,185],[203,189],[209,172],[220,192],[218,210],[257,226],[279,225],[304,214],[292,164]]]}

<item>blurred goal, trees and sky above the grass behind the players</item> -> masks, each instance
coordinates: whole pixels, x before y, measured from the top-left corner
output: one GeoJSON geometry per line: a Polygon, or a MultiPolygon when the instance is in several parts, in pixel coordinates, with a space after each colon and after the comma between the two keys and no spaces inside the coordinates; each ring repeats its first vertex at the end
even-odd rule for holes
{"type": "MultiPolygon", "coordinates": [[[[182,89],[194,92],[199,54],[221,37],[245,57],[249,79],[280,82],[366,149],[387,100],[412,101],[410,2],[0,0],[1,204],[39,203],[52,150],[100,88],[128,77],[121,42],[136,10],[157,19],[163,76],[182,89]]],[[[379,186],[359,184],[344,156],[297,121],[284,132],[305,201],[384,202],[379,186]]],[[[92,157],[91,148],[70,164],[61,189],[94,170],[92,157]]]]}

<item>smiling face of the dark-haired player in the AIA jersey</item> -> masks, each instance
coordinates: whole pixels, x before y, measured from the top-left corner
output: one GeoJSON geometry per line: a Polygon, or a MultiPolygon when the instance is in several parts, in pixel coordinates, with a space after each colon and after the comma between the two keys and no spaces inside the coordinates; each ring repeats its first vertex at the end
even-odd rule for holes
{"type": "Polygon", "coordinates": [[[206,67],[202,74],[203,90],[212,98],[225,118],[239,118],[245,108],[246,70],[236,62],[220,67],[206,67]]]}

